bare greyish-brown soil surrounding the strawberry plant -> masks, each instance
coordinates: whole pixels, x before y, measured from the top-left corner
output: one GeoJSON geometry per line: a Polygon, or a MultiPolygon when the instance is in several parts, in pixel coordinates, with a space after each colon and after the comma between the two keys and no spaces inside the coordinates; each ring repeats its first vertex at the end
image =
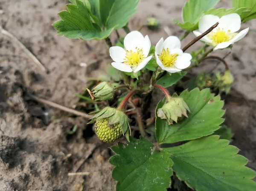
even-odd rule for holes
{"type": "MultiPolygon", "coordinates": [[[[168,35],[181,35],[173,23],[180,20],[185,0],[141,0],[132,17],[131,29],[139,29],[150,16],[158,17],[157,32],[142,29],[152,44],[168,35]]],[[[12,39],[0,35],[0,191],[113,191],[113,166],[108,159],[113,144],[100,142],[87,120],[46,107],[26,96],[23,87],[50,101],[74,107],[75,93],[83,93],[87,77],[97,77],[110,63],[104,41],[71,40],[56,35],[51,26],[67,0],[0,0],[0,25],[29,49],[44,67],[42,71],[12,39]],[[80,64],[84,63],[84,64],[80,64]],[[54,120],[49,121],[49,116],[54,120]],[[76,133],[67,135],[74,125],[76,133]],[[70,172],[89,172],[87,176],[68,176],[70,172]]],[[[219,7],[230,7],[222,0],[219,7]]],[[[235,76],[230,95],[226,96],[225,124],[233,130],[232,144],[256,169],[256,20],[245,23],[250,33],[233,47],[226,58],[235,76]]],[[[121,34],[124,34],[120,30],[121,34]]],[[[112,41],[115,36],[111,35],[112,41]]],[[[183,41],[186,45],[193,35],[183,41]]],[[[200,47],[200,42],[188,50],[200,47]]],[[[229,50],[216,51],[224,56],[229,50]]],[[[214,67],[207,61],[200,71],[214,67]]],[[[222,66],[215,71],[223,70],[222,66]]],[[[195,70],[195,73],[199,70],[195,70]]],[[[161,98],[161,96],[159,96],[161,98]]]]}

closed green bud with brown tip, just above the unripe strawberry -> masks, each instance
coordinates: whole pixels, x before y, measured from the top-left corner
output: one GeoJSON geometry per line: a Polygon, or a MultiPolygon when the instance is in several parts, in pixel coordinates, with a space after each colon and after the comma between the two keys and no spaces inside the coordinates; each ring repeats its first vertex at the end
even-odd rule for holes
{"type": "MultiPolygon", "coordinates": [[[[88,90],[88,89],[87,89],[88,90]]],[[[88,90],[93,101],[105,101],[112,99],[114,96],[114,89],[107,82],[102,82],[93,88],[92,91],[88,90]]]]}

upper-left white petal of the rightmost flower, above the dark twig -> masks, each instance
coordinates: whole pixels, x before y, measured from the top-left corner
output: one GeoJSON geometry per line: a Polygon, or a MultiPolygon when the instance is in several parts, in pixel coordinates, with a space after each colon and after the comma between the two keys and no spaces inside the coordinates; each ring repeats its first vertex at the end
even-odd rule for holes
{"type": "Polygon", "coordinates": [[[201,33],[206,32],[212,25],[220,20],[218,16],[212,14],[206,14],[199,20],[199,31],[201,33]]]}

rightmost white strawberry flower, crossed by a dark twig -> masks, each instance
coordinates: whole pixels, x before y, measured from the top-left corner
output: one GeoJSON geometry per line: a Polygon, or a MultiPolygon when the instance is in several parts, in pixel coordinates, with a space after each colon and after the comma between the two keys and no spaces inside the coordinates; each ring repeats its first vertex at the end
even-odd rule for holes
{"type": "Polygon", "coordinates": [[[204,15],[199,20],[199,31],[194,31],[193,33],[198,37],[217,22],[219,22],[218,26],[208,35],[201,38],[201,41],[215,46],[214,50],[227,48],[244,38],[249,31],[249,28],[247,28],[236,33],[241,28],[241,17],[239,14],[232,13],[221,18],[212,14],[204,15]]]}

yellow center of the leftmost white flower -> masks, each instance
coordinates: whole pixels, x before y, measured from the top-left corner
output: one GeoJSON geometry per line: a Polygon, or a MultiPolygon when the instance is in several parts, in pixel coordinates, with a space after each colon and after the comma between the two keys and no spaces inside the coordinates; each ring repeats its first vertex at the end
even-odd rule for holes
{"type": "Polygon", "coordinates": [[[126,51],[125,63],[137,67],[143,61],[143,50],[136,47],[136,51],[126,51]]]}

